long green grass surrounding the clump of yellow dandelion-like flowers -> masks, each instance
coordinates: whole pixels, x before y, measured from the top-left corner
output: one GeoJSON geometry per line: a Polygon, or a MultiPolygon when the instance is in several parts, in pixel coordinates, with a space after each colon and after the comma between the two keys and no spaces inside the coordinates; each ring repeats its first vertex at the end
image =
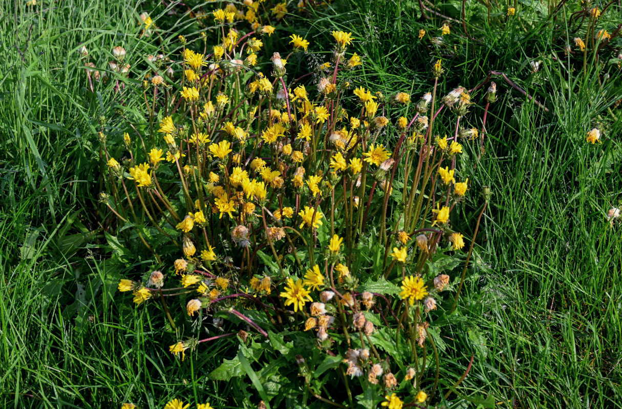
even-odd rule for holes
{"type": "MultiPolygon", "coordinates": [[[[33,16],[25,4],[0,4],[2,407],[103,408],[132,400],[155,408],[178,396],[241,406],[239,397],[256,394],[248,379],[205,377],[218,359],[236,353],[226,342],[176,362],[165,349],[174,335],[162,329],[163,318],[153,318],[162,315],[116,296],[118,278],[140,265],[124,267],[106,252],[98,225],[97,118],[111,118],[113,137],[123,124],[114,118],[114,83],[87,92],[77,50],[88,44],[101,63],[119,44],[128,59],[154,53],[154,45],[134,35],[139,12],[151,7],[63,1],[42,5],[33,16]]],[[[488,115],[486,153],[478,160],[475,145],[468,145],[458,162],[461,177],[473,182],[460,214],[476,216],[483,186],[493,196],[457,314],[443,327],[443,378],[458,380],[474,355],[461,395],[490,394],[503,408],[621,407],[622,234],[606,221],[610,206],[622,204],[616,139],[622,122],[614,119],[622,112],[612,106],[622,98],[619,71],[606,68],[611,79],[601,88],[592,63],[583,77],[580,57],[564,56],[573,37],[565,21],[578,6],[552,22],[545,6],[527,2],[517,9],[521,20],[508,24],[504,9],[493,7],[501,24],[488,24],[485,7],[468,2],[467,29],[475,40],[434,50],[417,32],[440,27],[442,19],[425,21],[418,4],[335,1],[284,30],[310,27],[302,32],[315,49],[327,48],[320,45],[330,41],[329,30],[352,31],[360,40],[356,51],[366,57],[357,80],[372,90],[413,90],[416,98],[431,90],[429,68],[442,57],[444,91],[472,88],[500,70],[550,109],[545,113],[495,78],[499,101],[488,115]],[[542,61],[539,73],[529,73],[531,59],[542,61]],[[596,117],[607,138],[587,145],[585,132],[596,117]]],[[[442,12],[457,18],[460,6],[448,2],[442,12]]],[[[621,12],[612,5],[602,27],[612,32],[621,12]]],[[[128,108],[141,103],[129,91],[123,98],[128,108]]],[[[481,93],[473,99],[481,103],[481,93]]],[[[465,125],[481,129],[483,107],[472,111],[465,125]]],[[[475,219],[465,216],[457,225],[470,237],[475,219]]],[[[476,406],[455,395],[447,405],[476,406]]]]}

